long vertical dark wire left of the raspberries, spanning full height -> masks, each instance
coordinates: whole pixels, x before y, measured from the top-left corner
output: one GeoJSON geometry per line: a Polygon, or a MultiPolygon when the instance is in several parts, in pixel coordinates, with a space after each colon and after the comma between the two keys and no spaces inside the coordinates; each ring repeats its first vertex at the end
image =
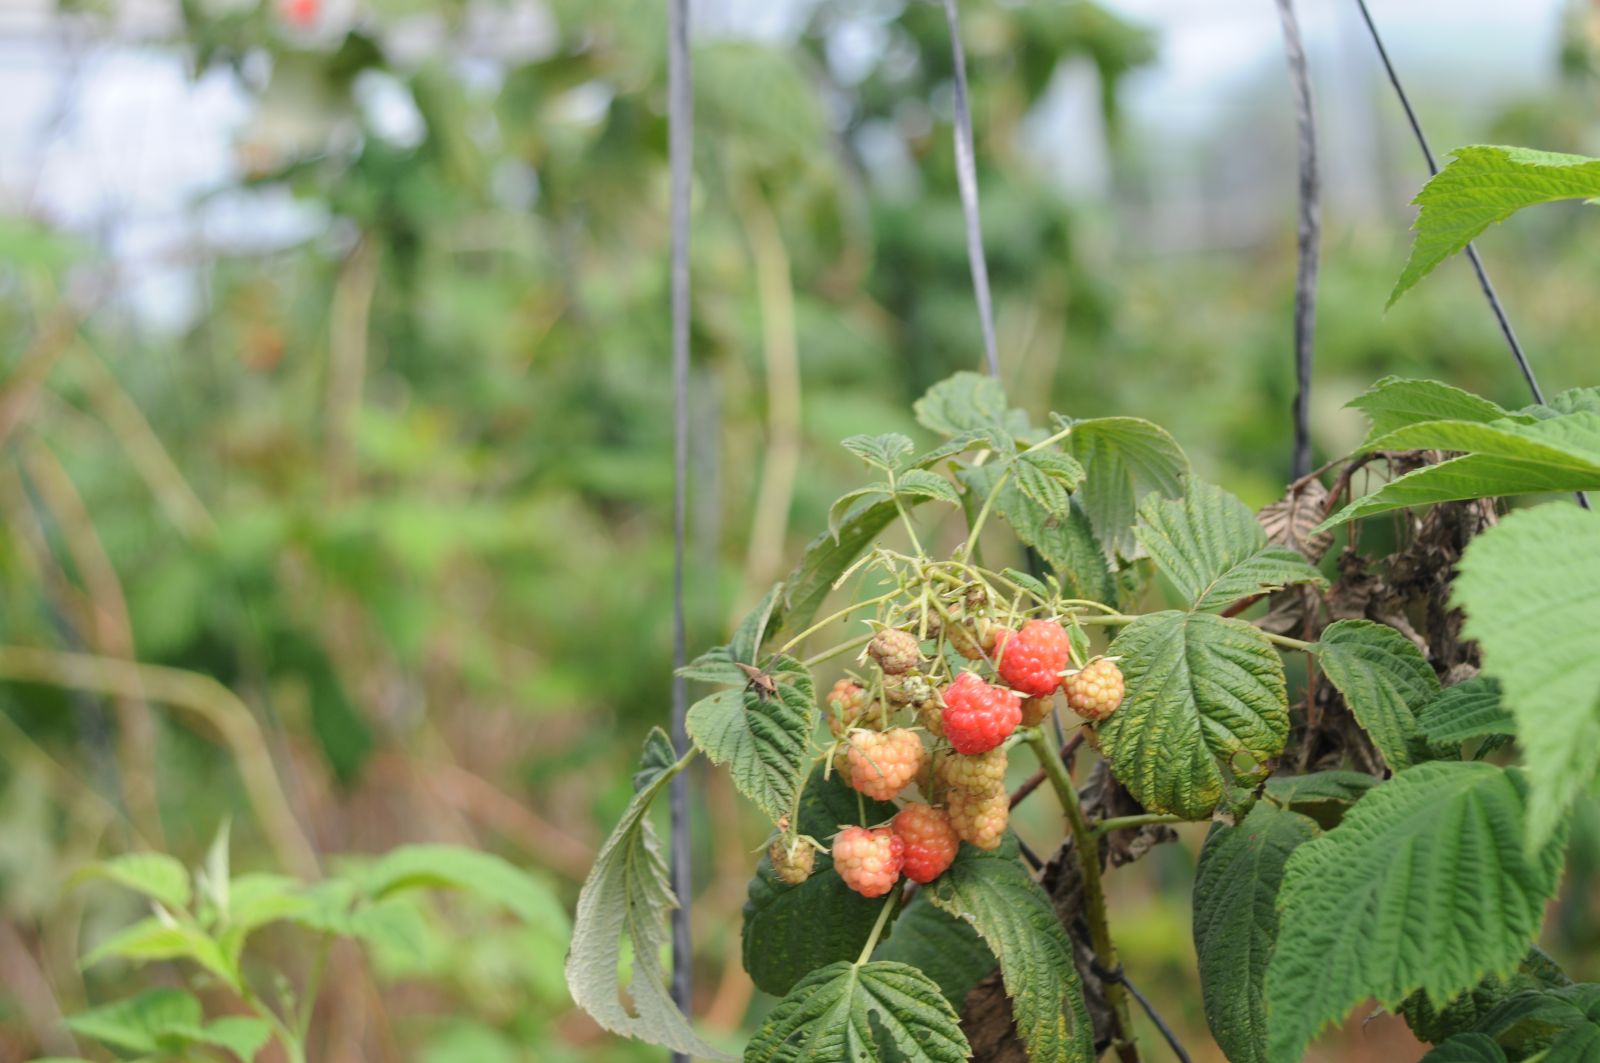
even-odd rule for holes
{"type": "MultiPolygon", "coordinates": [[[[688,680],[678,674],[686,660],[683,623],[683,532],[688,512],[690,466],[690,191],[694,181],[694,98],[690,69],[690,0],[667,5],[667,154],[672,170],[672,748],[690,749],[683,720],[688,680]]],[[[690,778],[678,772],[667,784],[672,816],[672,999],[690,1013],[693,961],[690,941],[690,778]]],[[[674,1063],[688,1063],[682,1052],[674,1063]]]]}

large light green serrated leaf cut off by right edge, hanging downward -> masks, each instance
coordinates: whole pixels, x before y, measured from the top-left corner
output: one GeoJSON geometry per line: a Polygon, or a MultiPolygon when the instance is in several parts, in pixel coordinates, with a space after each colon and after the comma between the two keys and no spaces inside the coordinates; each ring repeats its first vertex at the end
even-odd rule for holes
{"type": "Polygon", "coordinates": [[[1506,517],[1461,557],[1451,602],[1517,717],[1533,799],[1530,844],[1550,837],[1600,768],[1600,514],[1552,503],[1506,517]]]}

